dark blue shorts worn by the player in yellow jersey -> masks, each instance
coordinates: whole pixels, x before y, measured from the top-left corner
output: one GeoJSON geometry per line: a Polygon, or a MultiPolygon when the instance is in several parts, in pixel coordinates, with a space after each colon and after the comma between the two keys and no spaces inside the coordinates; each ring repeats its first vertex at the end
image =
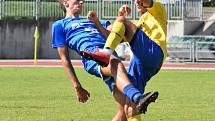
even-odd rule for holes
{"type": "Polygon", "coordinates": [[[160,70],[163,51],[140,29],[136,30],[130,47],[133,57],[129,65],[128,77],[143,94],[146,83],[160,70]]]}

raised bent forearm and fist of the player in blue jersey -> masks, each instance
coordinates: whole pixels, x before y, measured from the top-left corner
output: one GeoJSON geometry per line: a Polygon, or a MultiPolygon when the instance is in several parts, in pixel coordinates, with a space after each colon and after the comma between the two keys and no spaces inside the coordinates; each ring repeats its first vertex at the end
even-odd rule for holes
{"type": "Polygon", "coordinates": [[[95,23],[96,28],[102,32],[102,34],[105,36],[105,38],[108,37],[110,32],[102,26],[101,22],[99,21],[96,13],[94,11],[89,11],[87,14],[87,18],[89,20],[92,20],[95,23]]]}

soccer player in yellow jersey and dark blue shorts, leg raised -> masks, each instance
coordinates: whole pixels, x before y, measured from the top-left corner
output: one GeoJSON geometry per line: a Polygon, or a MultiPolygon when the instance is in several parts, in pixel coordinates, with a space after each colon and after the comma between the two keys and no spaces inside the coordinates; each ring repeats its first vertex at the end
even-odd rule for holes
{"type": "MultiPolygon", "coordinates": [[[[119,15],[112,26],[104,49],[97,52],[84,51],[83,55],[107,66],[110,62],[110,55],[117,45],[121,42],[129,42],[133,57],[129,65],[128,77],[132,84],[144,94],[146,83],[158,73],[167,55],[167,16],[160,2],[135,0],[135,5],[141,15],[136,25],[126,19],[126,15],[130,14],[131,10],[127,5],[123,5],[118,11],[119,15]]],[[[123,91],[129,95],[126,89],[123,91]]],[[[128,96],[128,98],[131,97],[128,96]]],[[[141,112],[138,112],[138,106],[134,105],[129,105],[129,103],[122,105],[128,121],[141,120],[139,115],[141,112]]]]}

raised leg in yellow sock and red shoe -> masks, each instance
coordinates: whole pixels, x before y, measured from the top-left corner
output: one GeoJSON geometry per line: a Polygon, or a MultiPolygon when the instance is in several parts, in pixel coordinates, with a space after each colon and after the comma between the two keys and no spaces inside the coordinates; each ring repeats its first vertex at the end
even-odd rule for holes
{"type": "Polygon", "coordinates": [[[117,45],[121,42],[130,42],[136,29],[136,25],[127,21],[124,16],[118,16],[112,26],[104,48],[96,52],[83,51],[82,55],[98,62],[102,66],[107,66],[110,55],[116,49],[117,45]]]}

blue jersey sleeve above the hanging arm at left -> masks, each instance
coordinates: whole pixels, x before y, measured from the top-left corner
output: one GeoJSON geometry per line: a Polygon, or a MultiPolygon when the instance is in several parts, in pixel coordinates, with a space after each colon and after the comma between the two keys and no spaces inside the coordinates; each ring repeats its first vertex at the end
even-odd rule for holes
{"type": "Polygon", "coordinates": [[[52,25],[52,48],[63,47],[66,45],[66,36],[61,21],[56,21],[52,25]]]}

